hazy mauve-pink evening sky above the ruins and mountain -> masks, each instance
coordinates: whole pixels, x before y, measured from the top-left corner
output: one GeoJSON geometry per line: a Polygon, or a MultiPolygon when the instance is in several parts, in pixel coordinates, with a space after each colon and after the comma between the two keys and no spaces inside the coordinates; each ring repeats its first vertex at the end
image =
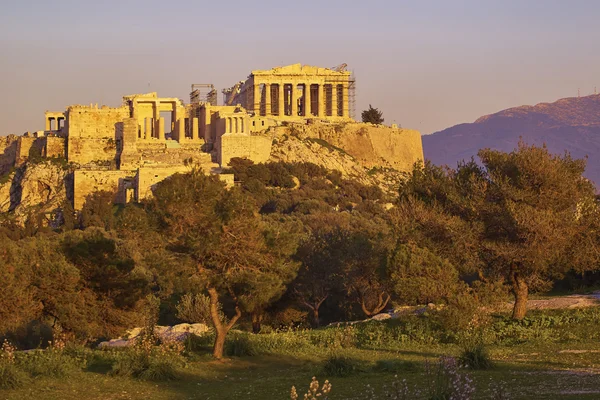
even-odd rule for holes
{"type": "Polygon", "coordinates": [[[358,116],[371,104],[429,134],[600,90],[599,15],[596,0],[0,0],[0,135],[294,63],[348,64],[358,116]]]}

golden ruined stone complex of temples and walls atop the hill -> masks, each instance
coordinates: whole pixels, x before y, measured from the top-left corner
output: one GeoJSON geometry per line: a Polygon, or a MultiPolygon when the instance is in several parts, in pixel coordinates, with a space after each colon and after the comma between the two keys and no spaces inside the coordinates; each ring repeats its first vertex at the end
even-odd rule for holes
{"type": "Polygon", "coordinates": [[[223,94],[219,106],[213,85],[194,84],[188,104],[146,93],[125,96],[116,108],[73,105],[46,112],[44,131],[7,139],[0,161],[65,157],[75,165],[74,207],[80,209],[97,190],[115,192],[116,202],[142,200],[154,184],[191,165],[233,184],[222,168],[234,157],[269,160],[278,127],[353,122],[354,79],[345,65],[252,71],[223,94]]]}

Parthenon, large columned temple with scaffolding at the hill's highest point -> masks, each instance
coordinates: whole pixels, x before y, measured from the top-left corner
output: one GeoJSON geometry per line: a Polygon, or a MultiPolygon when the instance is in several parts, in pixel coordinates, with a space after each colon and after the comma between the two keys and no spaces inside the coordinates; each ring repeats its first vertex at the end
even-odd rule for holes
{"type": "Polygon", "coordinates": [[[349,119],[354,80],[345,64],[335,69],[293,64],[252,71],[223,90],[225,104],[239,104],[256,116],[349,119]]]}

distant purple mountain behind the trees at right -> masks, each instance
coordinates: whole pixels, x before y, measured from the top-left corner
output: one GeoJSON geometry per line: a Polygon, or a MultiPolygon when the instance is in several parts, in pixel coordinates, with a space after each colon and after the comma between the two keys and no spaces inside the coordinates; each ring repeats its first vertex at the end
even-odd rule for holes
{"type": "Polygon", "coordinates": [[[512,151],[519,137],[546,144],[555,154],[588,157],[585,176],[600,187],[600,95],[570,97],[554,103],[509,108],[423,136],[425,158],[456,167],[482,148],[512,151]]]}

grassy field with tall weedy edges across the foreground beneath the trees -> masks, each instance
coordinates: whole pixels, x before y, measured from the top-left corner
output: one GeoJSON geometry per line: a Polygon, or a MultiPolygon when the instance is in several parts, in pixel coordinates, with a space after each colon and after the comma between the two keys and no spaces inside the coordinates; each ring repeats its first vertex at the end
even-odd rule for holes
{"type": "MultiPolygon", "coordinates": [[[[493,330],[500,334],[487,339],[494,367],[465,371],[476,387],[473,398],[600,398],[599,325],[594,319],[600,309],[578,313],[539,312],[523,323],[497,323],[493,330]],[[505,397],[494,397],[493,388],[498,385],[506,389],[505,397]]],[[[80,350],[79,366],[65,376],[29,377],[19,389],[0,390],[0,398],[289,399],[292,385],[302,398],[312,376],[321,382],[330,380],[330,399],[384,398],[383,388],[403,379],[427,398],[423,392],[431,375],[425,364],[442,355],[459,356],[461,346],[443,343],[433,333],[431,338],[415,334],[406,339],[399,336],[407,331],[406,325],[398,326],[376,323],[352,329],[239,334],[244,339],[241,351],[250,348],[248,352],[256,355],[215,361],[206,354],[204,343],[187,353],[179,379],[168,382],[114,376],[106,362],[107,352],[80,350]],[[394,335],[403,339],[393,340],[394,335]],[[353,370],[347,376],[332,376],[324,370],[332,355],[351,360],[353,370]],[[367,394],[369,387],[375,394],[367,394]]]]}

